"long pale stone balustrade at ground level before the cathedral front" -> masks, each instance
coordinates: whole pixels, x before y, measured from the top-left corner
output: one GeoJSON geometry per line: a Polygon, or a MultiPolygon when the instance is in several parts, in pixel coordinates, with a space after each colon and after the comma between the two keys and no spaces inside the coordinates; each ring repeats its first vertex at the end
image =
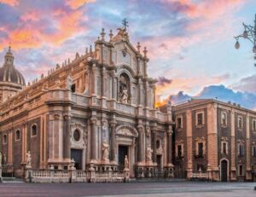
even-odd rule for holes
{"type": "Polygon", "coordinates": [[[89,171],[77,170],[33,170],[26,169],[25,182],[28,183],[117,183],[128,182],[129,170],[126,171],[89,171]]]}

